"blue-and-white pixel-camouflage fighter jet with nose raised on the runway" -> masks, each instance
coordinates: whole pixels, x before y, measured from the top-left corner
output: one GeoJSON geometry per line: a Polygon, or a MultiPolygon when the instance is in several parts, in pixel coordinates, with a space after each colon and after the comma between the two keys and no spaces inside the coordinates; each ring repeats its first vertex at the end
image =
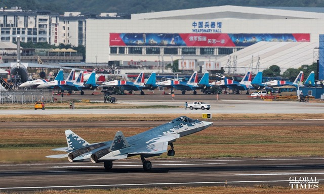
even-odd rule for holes
{"type": "Polygon", "coordinates": [[[212,122],[181,116],[131,137],[125,137],[121,131],[117,131],[112,141],[92,144],[71,130],[66,130],[65,136],[68,147],[53,150],[64,151],[67,154],[52,155],[47,156],[47,158],[67,157],[70,162],[103,162],[104,167],[110,170],[112,161],[140,155],[144,170],[149,171],[152,164],[145,158],[159,156],[165,152],[168,152],[168,156],[174,156],[173,142],[177,138],[204,130],[212,124],[212,122]],[[168,151],[169,144],[171,150],[168,151]]]}

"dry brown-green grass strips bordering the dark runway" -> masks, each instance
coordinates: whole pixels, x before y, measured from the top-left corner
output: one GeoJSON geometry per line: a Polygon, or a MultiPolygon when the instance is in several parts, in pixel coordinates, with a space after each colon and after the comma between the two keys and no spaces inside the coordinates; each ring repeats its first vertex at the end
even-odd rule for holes
{"type": "MultiPolygon", "coordinates": [[[[34,122],[46,121],[169,121],[179,115],[58,115],[58,116],[3,116],[0,122],[34,122]]],[[[200,114],[188,114],[191,118],[200,118],[200,114]]],[[[278,115],[278,114],[231,114],[219,115],[217,120],[258,120],[258,119],[324,119],[324,114],[278,115]]],[[[75,128],[73,131],[89,142],[111,140],[116,131],[122,130],[125,136],[131,136],[148,127],[129,128],[75,128]],[[89,132],[91,131],[91,132],[89,132]],[[98,135],[105,134],[105,135],[98,135]]],[[[53,148],[65,147],[63,128],[37,129],[1,129],[0,163],[54,162],[55,159],[44,158],[47,155],[60,154],[53,148]]],[[[175,158],[219,158],[219,157],[284,157],[284,156],[323,156],[324,130],[322,126],[258,126],[258,127],[216,127],[178,139],[175,143],[175,158]],[[201,150],[201,148],[204,148],[201,150]]],[[[167,158],[166,154],[152,160],[167,158]]],[[[170,159],[170,157],[168,157],[170,159]]],[[[61,161],[66,161],[62,159],[61,161]]],[[[293,190],[288,187],[255,185],[253,187],[157,187],[131,189],[70,189],[46,190],[35,193],[304,193],[306,190],[293,190]]],[[[3,193],[0,191],[0,193],[3,193]]],[[[307,193],[324,193],[324,188],[307,190],[307,193]]]]}

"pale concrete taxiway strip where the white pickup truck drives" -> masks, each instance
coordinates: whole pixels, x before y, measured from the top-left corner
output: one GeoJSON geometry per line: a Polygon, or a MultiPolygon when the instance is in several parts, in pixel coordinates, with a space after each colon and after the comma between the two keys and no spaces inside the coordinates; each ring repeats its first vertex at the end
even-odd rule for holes
{"type": "Polygon", "coordinates": [[[5,110],[0,115],[53,115],[53,114],[190,114],[190,113],[212,113],[212,114],[321,114],[324,113],[324,103],[299,103],[299,102],[277,102],[277,101],[249,101],[249,100],[222,100],[207,102],[211,105],[210,110],[184,109],[184,102],[157,102],[157,101],[123,101],[123,104],[139,106],[139,108],[108,108],[108,109],[46,109],[46,110],[5,110]],[[171,108],[140,108],[140,106],[168,105],[171,108]]]}

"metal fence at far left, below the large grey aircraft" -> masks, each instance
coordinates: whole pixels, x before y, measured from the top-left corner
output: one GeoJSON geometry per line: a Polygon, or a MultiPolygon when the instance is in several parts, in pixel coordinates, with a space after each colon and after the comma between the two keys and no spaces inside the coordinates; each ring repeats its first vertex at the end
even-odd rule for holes
{"type": "Polygon", "coordinates": [[[52,92],[47,91],[1,91],[0,104],[33,104],[36,101],[53,103],[52,92]]]}

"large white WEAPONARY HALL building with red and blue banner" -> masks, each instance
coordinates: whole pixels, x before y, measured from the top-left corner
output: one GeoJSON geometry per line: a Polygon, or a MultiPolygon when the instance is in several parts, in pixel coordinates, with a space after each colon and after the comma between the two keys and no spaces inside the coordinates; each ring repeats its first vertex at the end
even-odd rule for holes
{"type": "Polygon", "coordinates": [[[238,6],[133,14],[86,21],[86,63],[159,69],[281,72],[318,59],[324,13],[238,6]]]}

